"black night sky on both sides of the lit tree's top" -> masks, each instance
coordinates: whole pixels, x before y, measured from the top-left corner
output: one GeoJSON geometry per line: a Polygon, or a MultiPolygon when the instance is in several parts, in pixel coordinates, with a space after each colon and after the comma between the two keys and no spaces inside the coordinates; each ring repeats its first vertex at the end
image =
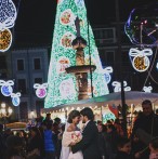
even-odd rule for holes
{"type": "MultiPolygon", "coordinates": [[[[18,10],[14,44],[51,44],[56,13],[56,0],[13,0],[18,10]]],[[[116,21],[116,0],[84,0],[92,26],[116,21]]],[[[120,19],[127,21],[130,11],[156,0],[119,0],[120,19]]]]}

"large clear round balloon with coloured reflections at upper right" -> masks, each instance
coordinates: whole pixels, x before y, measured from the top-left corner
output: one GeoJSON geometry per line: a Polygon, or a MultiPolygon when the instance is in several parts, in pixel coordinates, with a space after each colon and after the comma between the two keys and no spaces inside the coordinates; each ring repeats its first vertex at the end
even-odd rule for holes
{"type": "Polygon", "coordinates": [[[158,3],[141,5],[130,12],[124,24],[124,32],[133,44],[156,47],[158,3]]]}

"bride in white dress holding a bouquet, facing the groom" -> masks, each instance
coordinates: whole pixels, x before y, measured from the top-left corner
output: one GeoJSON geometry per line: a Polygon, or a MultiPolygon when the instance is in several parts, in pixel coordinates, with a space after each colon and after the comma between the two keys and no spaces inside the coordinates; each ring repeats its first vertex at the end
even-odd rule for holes
{"type": "Polygon", "coordinates": [[[77,127],[80,121],[80,112],[71,110],[68,115],[68,120],[65,127],[65,132],[62,140],[62,150],[60,159],[83,159],[82,151],[79,150],[73,154],[70,146],[80,142],[82,138],[81,132],[77,127]]]}

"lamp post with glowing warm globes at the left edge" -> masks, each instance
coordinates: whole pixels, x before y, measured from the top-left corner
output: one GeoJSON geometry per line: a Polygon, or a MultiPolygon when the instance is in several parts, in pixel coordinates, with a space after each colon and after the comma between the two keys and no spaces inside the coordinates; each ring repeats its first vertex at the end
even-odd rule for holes
{"type": "Polygon", "coordinates": [[[10,117],[13,112],[11,107],[6,107],[5,103],[1,103],[0,107],[0,118],[3,118],[3,129],[5,130],[6,118],[10,117]]]}

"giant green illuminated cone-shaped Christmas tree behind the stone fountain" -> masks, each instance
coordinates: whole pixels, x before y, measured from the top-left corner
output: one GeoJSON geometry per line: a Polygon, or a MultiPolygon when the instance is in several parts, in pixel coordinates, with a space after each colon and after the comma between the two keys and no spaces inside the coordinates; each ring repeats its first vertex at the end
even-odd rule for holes
{"type": "MultiPolygon", "coordinates": [[[[80,19],[80,35],[87,41],[84,48],[85,65],[95,65],[92,72],[93,96],[108,94],[107,83],[103,74],[97,48],[92,29],[87,21],[87,10],[83,0],[58,0],[55,19],[50,68],[48,75],[48,94],[44,107],[55,107],[78,101],[78,85],[75,75],[67,74],[66,68],[76,65],[76,51],[71,42],[77,36],[76,17],[80,19]],[[89,29],[89,31],[88,31],[89,29]],[[89,34],[88,34],[89,32],[89,34]],[[89,38],[88,38],[89,35],[89,38]],[[90,42],[90,43],[89,43],[90,42]],[[90,48],[89,48],[90,45],[90,48]],[[90,50],[89,50],[90,49],[90,50]]],[[[91,97],[91,76],[88,76],[88,95],[91,97]]]]}

